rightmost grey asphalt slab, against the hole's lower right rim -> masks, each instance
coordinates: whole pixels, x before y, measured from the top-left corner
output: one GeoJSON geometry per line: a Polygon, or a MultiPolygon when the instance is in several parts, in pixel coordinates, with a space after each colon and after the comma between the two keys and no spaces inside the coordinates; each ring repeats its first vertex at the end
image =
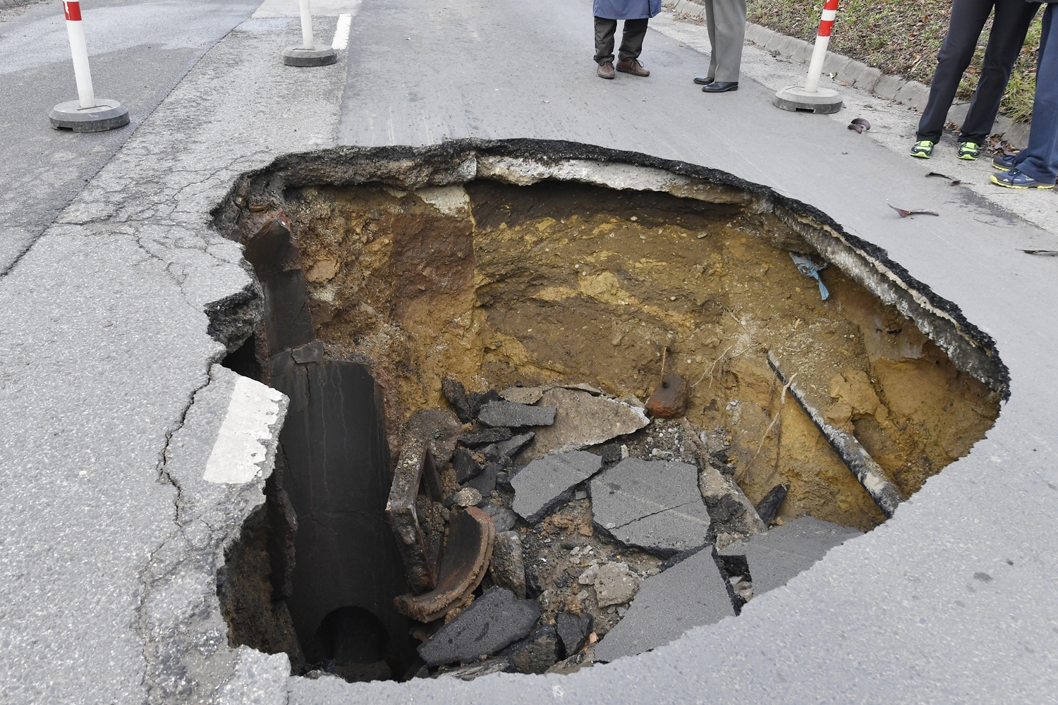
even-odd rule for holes
{"type": "Polygon", "coordinates": [[[737,541],[720,550],[722,556],[746,556],[753,595],[786,585],[826,552],[861,535],[856,528],[839,526],[815,517],[801,517],[769,532],[737,541]]]}

